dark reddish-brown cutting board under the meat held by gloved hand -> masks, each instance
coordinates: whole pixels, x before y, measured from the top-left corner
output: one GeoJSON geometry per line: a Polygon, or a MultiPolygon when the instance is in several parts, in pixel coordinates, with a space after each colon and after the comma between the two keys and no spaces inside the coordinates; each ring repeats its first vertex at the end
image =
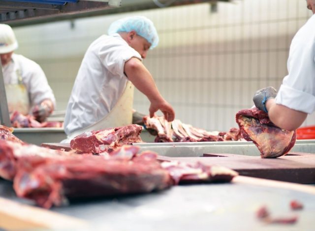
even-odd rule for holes
{"type": "Polygon", "coordinates": [[[158,156],[158,159],[189,163],[199,161],[203,164],[228,167],[242,176],[315,184],[315,154],[292,152],[272,159],[236,154],[203,154],[203,157],[158,156]]]}

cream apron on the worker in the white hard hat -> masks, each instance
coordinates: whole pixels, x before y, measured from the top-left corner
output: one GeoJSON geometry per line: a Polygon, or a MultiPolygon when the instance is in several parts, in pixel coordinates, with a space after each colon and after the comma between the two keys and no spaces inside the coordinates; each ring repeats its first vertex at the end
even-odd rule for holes
{"type": "Polygon", "coordinates": [[[20,70],[16,70],[16,75],[18,77],[17,84],[5,84],[9,113],[18,111],[23,115],[28,115],[30,112],[29,93],[22,82],[20,70]]]}

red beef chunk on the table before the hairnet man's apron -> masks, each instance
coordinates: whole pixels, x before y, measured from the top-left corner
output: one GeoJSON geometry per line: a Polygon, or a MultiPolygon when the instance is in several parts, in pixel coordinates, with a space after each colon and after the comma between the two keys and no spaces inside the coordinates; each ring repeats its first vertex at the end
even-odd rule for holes
{"type": "Polygon", "coordinates": [[[123,127],[84,132],[70,141],[76,153],[110,153],[114,149],[131,143],[143,142],[140,133],[142,126],[130,124],[123,127]]]}

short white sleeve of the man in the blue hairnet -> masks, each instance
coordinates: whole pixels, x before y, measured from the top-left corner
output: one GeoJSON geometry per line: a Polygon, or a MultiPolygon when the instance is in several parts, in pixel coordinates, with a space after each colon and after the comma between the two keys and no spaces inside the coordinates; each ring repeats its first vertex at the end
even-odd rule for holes
{"type": "Polygon", "coordinates": [[[124,76],[124,66],[126,61],[132,57],[142,60],[140,54],[129,45],[115,43],[110,46],[103,46],[98,52],[102,64],[113,75],[124,76]]]}

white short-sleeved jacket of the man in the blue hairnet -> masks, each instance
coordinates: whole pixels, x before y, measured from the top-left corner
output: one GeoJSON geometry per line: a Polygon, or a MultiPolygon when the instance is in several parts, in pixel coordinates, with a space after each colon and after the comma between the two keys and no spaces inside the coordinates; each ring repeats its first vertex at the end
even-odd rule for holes
{"type": "Polygon", "coordinates": [[[64,119],[67,135],[105,117],[128,81],[125,62],[140,54],[119,34],[103,35],[86,51],[72,88],[64,119]]]}

